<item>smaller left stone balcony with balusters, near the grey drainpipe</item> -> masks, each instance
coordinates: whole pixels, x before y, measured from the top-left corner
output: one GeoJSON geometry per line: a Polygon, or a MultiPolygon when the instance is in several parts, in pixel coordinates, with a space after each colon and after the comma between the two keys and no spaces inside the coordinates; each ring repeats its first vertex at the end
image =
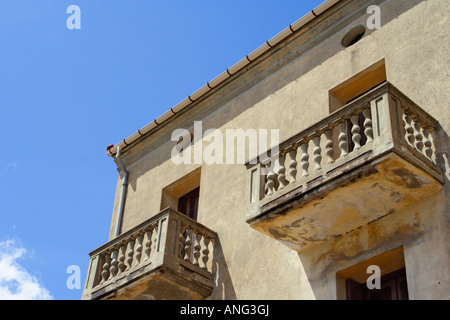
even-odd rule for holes
{"type": "Polygon", "coordinates": [[[83,299],[204,299],[217,234],[172,209],[90,253],[83,299]]]}

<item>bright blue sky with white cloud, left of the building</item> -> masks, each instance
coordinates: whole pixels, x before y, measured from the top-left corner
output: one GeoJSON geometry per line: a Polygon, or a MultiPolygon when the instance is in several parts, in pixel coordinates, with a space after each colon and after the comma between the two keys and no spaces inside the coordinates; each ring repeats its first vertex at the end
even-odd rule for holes
{"type": "Polygon", "coordinates": [[[106,147],[322,2],[0,0],[0,300],[80,299],[108,241],[106,147]]]}

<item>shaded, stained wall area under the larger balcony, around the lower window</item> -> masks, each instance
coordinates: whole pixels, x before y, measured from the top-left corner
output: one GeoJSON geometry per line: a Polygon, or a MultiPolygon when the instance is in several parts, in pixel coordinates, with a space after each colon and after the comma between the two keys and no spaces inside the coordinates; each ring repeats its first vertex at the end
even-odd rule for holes
{"type": "Polygon", "coordinates": [[[438,194],[395,211],[334,241],[301,253],[314,295],[336,299],[336,273],[403,246],[410,299],[448,296],[446,239],[440,227],[444,199],[438,194]],[[433,208],[430,210],[430,208],[433,208]]]}

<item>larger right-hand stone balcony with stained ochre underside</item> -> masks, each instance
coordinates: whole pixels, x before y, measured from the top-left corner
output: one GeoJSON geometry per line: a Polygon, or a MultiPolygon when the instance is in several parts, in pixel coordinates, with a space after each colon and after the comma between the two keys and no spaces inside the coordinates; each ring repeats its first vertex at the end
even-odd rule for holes
{"type": "Polygon", "coordinates": [[[442,188],[438,122],[385,82],[247,163],[246,221],[301,252],[442,188]]]}

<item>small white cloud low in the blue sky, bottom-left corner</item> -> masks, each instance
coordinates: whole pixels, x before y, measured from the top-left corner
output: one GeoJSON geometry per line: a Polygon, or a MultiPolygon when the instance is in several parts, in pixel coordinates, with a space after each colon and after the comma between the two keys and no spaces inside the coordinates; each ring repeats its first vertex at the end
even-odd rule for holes
{"type": "Polygon", "coordinates": [[[17,260],[26,253],[14,240],[0,242],[0,300],[49,300],[50,292],[17,260]]]}

